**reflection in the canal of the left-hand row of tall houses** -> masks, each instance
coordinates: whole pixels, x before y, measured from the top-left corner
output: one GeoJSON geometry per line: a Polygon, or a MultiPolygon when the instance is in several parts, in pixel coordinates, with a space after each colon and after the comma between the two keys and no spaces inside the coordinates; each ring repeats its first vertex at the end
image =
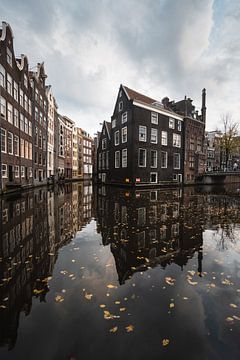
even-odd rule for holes
{"type": "Polygon", "coordinates": [[[0,346],[14,347],[33,298],[46,301],[59,249],[91,220],[91,194],[73,183],[0,200],[0,346]]]}

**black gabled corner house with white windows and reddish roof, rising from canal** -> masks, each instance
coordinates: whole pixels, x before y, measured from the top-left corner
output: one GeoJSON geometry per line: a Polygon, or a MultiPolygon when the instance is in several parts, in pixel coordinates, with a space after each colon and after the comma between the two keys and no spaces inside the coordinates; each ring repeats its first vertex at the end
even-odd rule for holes
{"type": "MultiPolygon", "coordinates": [[[[106,183],[139,186],[182,182],[183,116],[121,85],[109,133],[106,183]]],[[[101,153],[102,141],[98,166],[101,153]]]]}

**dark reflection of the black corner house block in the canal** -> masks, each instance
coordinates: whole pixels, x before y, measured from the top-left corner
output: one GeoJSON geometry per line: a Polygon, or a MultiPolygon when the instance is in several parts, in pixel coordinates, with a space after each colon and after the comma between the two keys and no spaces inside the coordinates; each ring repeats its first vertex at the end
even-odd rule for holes
{"type": "Polygon", "coordinates": [[[183,266],[202,245],[201,225],[196,224],[193,239],[185,226],[189,220],[183,223],[181,189],[98,190],[97,228],[103,244],[111,244],[120,284],[149,266],[183,266]]]}

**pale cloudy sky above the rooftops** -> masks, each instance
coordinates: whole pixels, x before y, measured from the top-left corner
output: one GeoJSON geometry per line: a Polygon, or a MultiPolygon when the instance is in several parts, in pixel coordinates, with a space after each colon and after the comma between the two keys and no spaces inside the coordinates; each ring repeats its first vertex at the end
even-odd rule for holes
{"type": "Polygon", "coordinates": [[[109,120],[121,83],[156,100],[187,95],[207,129],[240,120],[238,0],[1,0],[15,53],[45,62],[61,114],[91,134],[109,120]]]}

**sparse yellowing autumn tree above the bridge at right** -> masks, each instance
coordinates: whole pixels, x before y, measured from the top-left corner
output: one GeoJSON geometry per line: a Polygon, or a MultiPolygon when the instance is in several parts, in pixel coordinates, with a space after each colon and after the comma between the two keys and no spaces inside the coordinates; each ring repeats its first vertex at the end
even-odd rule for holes
{"type": "Polygon", "coordinates": [[[234,122],[231,114],[225,113],[221,116],[223,133],[220,138],[221,165],[229,166],[229,160],[237,152],[240,146],[238,136],[238,123],[234,122]]]}

